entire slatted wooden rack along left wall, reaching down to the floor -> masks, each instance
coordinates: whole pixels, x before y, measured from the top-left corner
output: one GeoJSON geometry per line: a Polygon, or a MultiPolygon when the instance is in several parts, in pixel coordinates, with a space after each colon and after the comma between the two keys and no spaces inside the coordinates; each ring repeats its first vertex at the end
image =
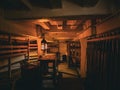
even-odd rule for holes
{"type": "Polygon", "coordinates": [[[37,40],[0,33],[0,90],[11,90],[21,77],[21,63],[38,58],[37,40]]]}

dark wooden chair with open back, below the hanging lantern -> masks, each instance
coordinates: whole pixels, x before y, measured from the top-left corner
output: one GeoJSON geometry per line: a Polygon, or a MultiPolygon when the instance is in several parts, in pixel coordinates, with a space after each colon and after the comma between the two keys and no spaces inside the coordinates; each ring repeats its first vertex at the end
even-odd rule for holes
{"type": "Polygon", "coordinates": [[[40,60],[40,77],[42,81],[52,80],[53,85],[57,84],[56,60],[40,60]]]}

